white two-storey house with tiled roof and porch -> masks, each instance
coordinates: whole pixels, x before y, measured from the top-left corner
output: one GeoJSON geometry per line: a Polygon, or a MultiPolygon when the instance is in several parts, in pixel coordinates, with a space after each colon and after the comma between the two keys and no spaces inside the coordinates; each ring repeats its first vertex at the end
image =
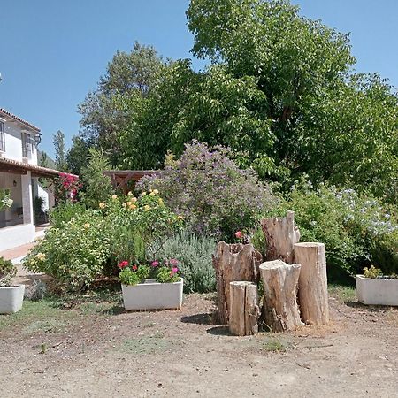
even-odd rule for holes
{"type": "Polygon", "coordinates": [[[59,175],[37,165],[40,129],[0,108],[0,188],[11,191],[12,206],[0,211],[0,251],[34,241],[34,197],[42,196],[48,207],[53,205],[39,177],[59,175]]]}

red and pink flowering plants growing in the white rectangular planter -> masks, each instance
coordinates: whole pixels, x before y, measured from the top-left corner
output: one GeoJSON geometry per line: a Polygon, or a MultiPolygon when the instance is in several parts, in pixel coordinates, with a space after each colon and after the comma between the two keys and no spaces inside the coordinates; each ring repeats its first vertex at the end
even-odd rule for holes
{"type": "Polygon", "coordinates": [[[118,266],[119,279],[123,285],[136,285],[145,279],[153,278],[159,283],[172,283],[180,280],[179,262],[175,258],[160,263],[157,260],[150,264],[134,264],[124,260],[118,266]]]}

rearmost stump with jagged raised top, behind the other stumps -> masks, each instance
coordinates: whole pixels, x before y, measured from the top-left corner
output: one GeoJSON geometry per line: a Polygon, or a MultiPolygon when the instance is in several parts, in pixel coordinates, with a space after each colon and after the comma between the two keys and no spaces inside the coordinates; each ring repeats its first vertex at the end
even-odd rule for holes
{"type": "Polygon", "coordinates": [[[261,227],[267,245],[265,259],[295,263],[293,246],[300,241],[300,231],[295,226],[295,212],[287,211],[286,217],[264,218],[261,227]]]}

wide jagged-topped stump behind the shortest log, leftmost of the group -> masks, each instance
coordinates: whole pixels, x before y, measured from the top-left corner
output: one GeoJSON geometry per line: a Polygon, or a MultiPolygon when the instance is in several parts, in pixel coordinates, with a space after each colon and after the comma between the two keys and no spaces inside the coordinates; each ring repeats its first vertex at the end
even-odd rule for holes
{"type": "Polygon", "coordinates": [[[220,325],[228,325],[230,308],[229,284],[234,281],[246,280],[257,282],[259,278],[258,266],[263,256],[254,249],[252,244],[227,244],[218,242],[213,256],[213,267],[217,280],[217,315],[220,325]]]}

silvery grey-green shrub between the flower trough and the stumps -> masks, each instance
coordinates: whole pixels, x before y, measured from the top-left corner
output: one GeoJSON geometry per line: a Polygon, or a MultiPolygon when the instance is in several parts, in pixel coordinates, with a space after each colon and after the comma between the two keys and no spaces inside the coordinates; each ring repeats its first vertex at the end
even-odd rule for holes
{"type": "Polygon", "coordinates": [[[215,248],[216,241],[211,237],[180,233],[165,242],[162,249],[158,251],[157,257],[179,259],[186,293],[206,293],[216,288],[211,261],[215,248]]]}

